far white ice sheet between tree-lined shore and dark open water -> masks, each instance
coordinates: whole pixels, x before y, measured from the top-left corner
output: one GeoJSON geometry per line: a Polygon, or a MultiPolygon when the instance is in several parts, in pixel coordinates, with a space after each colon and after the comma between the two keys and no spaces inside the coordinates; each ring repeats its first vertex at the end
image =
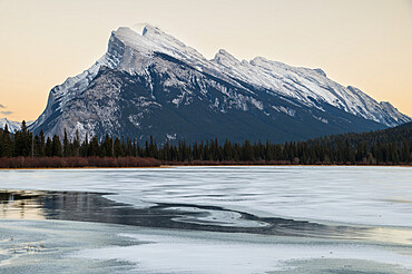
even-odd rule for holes
{"type": "Polygon", "coordinates": [[[412,227],[408,167],[1,170],[0,178],[1,188],[114,193],[109,198],[136,207],[214,205],[261,217],[412,227]]]}

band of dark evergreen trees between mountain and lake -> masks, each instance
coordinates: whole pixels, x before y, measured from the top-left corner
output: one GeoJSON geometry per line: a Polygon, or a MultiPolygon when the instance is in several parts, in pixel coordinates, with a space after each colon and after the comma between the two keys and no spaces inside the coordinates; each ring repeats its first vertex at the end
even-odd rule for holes
{"type": "Polygon", "coordinates": [[[412,163],[411,125],[366,133],[326,136],[306,141],[274,144],[271,141],[243,144],[217,139],[187,144],[166,143],[158,146],[150,138],[144,144],[130,138],[106,135],[86,137],[80,141],[65,136],[33,136],[22,123],[20,131],[0,130],[0,157],[149,157],[164,164],[349,164],[349,165],[410,165],[412,163]]]}

